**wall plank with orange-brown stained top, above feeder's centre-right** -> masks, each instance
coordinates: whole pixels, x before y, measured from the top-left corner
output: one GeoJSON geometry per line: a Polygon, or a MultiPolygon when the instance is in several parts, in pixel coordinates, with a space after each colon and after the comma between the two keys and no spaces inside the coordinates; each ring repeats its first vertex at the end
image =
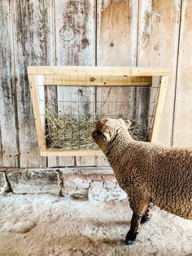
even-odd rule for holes
{"type": "MultiPolygon", "coordinates": [[[[135,66],[137,54],[137,1],[127,0],[100,0],[98,1],[98,33],[97,33],[97,64],[98,66],[135,66]]],[[[106,98],[109,91],[98,90],[97,98],[106,98]]],[[[131,118],[134,113],[135,90],[131,87],[120,89],[120,95],[124,99],[126,95],[129,104],[131,118]]],[[[110,95],[111,99],[116,99],[116,90],[110,95]]],[[[99,107],[99,106],[98,106],[99,107]]],[[[102,108],[103,114],[107,113],[106,108],[102,108]]],[[[128,111],[125,109],[125,115],[128,111]]],[[[102,113],[100,113],[102,115],[102,113]]],[[[106,161],[97,157],[96,164],[106,166],[106,161]]]]}

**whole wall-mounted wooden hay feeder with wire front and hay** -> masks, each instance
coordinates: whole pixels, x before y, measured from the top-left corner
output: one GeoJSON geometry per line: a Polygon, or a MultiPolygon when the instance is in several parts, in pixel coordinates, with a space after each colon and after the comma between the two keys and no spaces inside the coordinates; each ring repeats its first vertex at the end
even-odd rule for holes
{"type": "MultiPolygon", "coordinates": [[[[165,68],[28,67],[41,156],[96,156],[91,138],[103,117],[131,119],[136,139],[156,142],[168,86],[165,68]],[[146,104],[133,104],[136,88],[146,104]],[[145,118],[134,119],[143,108],[145,118]]],[[[143,114],[142,114],[143,116],[143,114]]]]}

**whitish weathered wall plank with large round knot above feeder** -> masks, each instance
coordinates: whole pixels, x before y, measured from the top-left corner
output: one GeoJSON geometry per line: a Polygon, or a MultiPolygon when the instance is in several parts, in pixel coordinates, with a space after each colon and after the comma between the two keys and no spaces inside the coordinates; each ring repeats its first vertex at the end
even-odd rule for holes
{"type": "MultiPolygon", "coordinates": [[[[94,6],[95,0],[55,1],[55,35],[57,65],[94,65],[94,6]]],[[[88,95],[93,89],[87,90],[88,95]]],[[[76,94],[76,92],[74,92],[76,94]]],[[[85,95],[85,91],[83,94],[85,95]]],[[[58,92],[59,95],[59,92],[58,92]]],[[[90,166],[94,157],[76,157],[76,165],[81,159],[90,166]],[[90,162],[91,161],[91,162],[90,162]]],[[[48,159],[49,161],[49,159],[48,159]]],[[[59,166],[74,165],[74,157],[60,157],[59,166]]]]}

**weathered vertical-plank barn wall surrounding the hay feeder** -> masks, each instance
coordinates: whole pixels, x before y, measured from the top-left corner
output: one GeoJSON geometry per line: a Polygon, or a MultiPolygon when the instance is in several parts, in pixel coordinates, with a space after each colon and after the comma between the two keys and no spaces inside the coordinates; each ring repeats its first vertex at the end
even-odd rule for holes
{"type": "MultiPolygon", "coordinates": [[[[191,7],[189,0],[2,0],[0,167],[108,165],[104,157],[39,157],[28,65],[168,67],[159,139],[191,146],[191,7]]],[[[128,93],[145,102],[145,92],[128,93]]]]}

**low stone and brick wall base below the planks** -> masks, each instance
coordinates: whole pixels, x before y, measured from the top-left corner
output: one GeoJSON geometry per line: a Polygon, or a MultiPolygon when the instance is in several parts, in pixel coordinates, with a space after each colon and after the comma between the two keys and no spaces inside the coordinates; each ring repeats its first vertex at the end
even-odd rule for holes
{"type": "Polygon", "coordinates": [[[2,169],[0,189],[2,194],[50,193],[89,200],[126,197],[110,168],[2,169]]]}

